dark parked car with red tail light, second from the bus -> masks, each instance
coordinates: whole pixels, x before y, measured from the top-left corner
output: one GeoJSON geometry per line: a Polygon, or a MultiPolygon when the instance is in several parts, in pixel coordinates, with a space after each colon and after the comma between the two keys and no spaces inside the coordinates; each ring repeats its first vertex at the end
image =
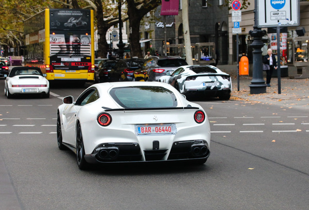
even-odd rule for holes
{"type": "Polygon", "coordinates": [[[133,81],[133,72],[140,69],[144,59],[126,58],[117,62],[114,68],[108,72],[111,81],[133,81]]]}

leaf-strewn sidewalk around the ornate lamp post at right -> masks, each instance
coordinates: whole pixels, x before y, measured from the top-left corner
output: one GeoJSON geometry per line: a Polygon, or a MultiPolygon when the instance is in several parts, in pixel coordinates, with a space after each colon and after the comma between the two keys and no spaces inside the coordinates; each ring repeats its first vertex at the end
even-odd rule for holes
{"type": "MultiPolygon", "coordinates": [[[[287,108],[309,110],[309,79],[290,79],[281,77],[281,94],[278,94],[278,79],[273,77],[271,87],[266,87],[266,93],[250,94],[252,77],[240,76],[240,91],[237,87],[237,66],[218,65],[220,70],[232,78],[232,100],[243,100],[246,103],[275,104],[287,108]]],[[[289,75],[290,76],[290,75],[289,75]]],[[[266,76],[264,75],[264,81],[266,76]]]]}

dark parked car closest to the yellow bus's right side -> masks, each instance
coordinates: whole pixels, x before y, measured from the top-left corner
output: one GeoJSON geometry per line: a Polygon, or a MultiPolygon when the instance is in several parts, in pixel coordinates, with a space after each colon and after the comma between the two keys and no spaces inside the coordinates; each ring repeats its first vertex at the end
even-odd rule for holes
{"type": "Polygon", "coordinates": [[[94,83],[109,82],[108,72],[115,67],[119,60],[102,60],[94,72],[94,83]]]}

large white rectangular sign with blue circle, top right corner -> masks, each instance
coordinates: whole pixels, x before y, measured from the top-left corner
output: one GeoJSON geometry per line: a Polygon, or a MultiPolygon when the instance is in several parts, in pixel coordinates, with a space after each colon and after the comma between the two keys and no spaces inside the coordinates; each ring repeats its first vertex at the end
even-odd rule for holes
{"type": "Polygon", "coordinates": [[[257,0],[257,26],[298,26],[299,0],[257,0]]]}

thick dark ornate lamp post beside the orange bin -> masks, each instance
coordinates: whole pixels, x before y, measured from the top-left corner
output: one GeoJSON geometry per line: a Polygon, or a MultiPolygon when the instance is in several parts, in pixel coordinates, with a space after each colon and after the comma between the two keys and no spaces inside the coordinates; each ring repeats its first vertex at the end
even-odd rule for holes
{"type": "Polygon", "coordinates": [[[255,0],[254,9],[254,30],[250,31],[249,34],[253,37],[251,46],[253,47],[253,75],[251,80],[250,94],[266,93],[266,84],[263,79],[262,71],[262,51],[261,48],[264,46],[261,38],[266,34],[265,30],[261,30],[257,27],[257,0],[255,0]]]}

